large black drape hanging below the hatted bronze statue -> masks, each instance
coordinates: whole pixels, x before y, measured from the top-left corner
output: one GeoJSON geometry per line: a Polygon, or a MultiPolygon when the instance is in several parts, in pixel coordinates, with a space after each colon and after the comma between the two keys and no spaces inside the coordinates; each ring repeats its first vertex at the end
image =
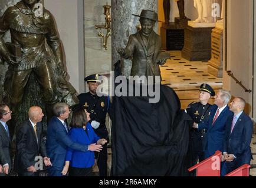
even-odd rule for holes
{"type": "MultiPolygon", "coordinates": [[[[116,63],[116,76],[119,68],[120,62],[116,63]]],[[[139,87],[141,91],[142,85],[139,87]]],[[[149,99],[114,97],[112,175],[188,176],[193,121],[180,110],[179,98],[171,88],[161,85],[159,102],[149,103],[149,99]]]]}

